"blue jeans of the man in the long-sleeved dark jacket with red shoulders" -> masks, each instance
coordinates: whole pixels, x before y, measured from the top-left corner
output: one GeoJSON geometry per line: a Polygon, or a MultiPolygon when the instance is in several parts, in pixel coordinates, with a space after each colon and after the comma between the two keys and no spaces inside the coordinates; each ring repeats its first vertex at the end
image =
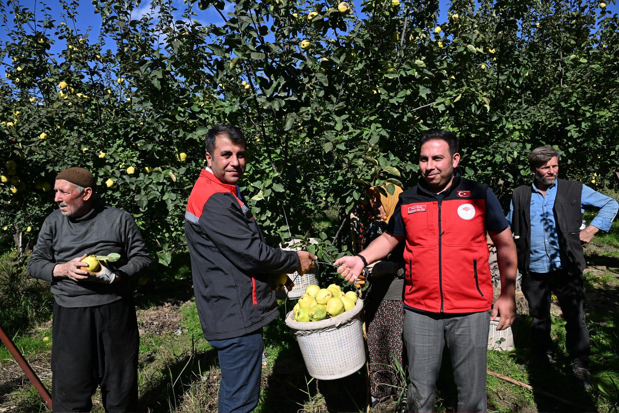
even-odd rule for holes
{"type": "Polygon", "coordinates": [[[262,374],[262,329],[241,337],[209,340],[217,349],[222,380],[219,413],[249,413],[258,406],[262,374]]]}

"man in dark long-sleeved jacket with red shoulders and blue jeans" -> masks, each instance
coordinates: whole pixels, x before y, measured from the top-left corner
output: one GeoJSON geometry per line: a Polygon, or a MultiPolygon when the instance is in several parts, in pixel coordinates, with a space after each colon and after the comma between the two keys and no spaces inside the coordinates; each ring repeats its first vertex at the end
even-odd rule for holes
{"type": "Polygon", "coordinates": [[[226,413],[258,406],[262,327],[279,314],[267,273],[302,273],[316,259],[265,243],[236,186],[245,172],[245,152],[245,137],[235,126],[210,129],[208,167],[197,178],[185,212],[197,311],[204,337],[218,350],[218,411],[226,413]]]}

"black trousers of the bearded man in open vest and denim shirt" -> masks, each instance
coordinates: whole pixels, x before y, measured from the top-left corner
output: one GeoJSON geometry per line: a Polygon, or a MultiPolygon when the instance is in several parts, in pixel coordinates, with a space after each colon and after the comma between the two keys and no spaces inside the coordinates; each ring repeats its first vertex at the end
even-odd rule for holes
{"type": "Polygon", "coordinates": [[[565,269],[543,274],[531,272],[522,277],[522,292],[529,302],[531,346],[537,356],[552,352],[550,339],[550,295],[556,294],[563,311],[566,347],[571,362],[587,365],[591,344],[584,315],[584,282],[582,273],[569,275],[565,269]]]}

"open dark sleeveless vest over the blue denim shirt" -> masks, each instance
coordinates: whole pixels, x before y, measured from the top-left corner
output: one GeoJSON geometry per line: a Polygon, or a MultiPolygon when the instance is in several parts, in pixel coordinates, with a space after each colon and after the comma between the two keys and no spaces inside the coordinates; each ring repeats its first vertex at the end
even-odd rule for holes
{"type": "MultiPolygon", "coordinates": [[[[556,226],[559,231],[559,246],[568,259],[568,263],[563,264],[568,264],[571,274],[580,274],[587,266],[580,241],[582,183],[561,179],[558,181],[552,211],[555,214],[556,226]]],[[[514,233],[514,242],[518,253],[518,269],[522,274],[529,274],[532,190],[530,185],[522,185],[514,189],[512,196],[514,212],[511,219],[511,230],[514,233]]]]}

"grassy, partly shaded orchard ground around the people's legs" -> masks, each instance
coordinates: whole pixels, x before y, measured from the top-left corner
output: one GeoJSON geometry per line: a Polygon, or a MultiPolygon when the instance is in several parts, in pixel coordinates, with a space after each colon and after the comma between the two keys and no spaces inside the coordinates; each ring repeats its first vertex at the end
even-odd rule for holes
{"type": "MultiPolygon", "coordinates": [[[[516,350],[488,352],[488,369],[554,396],[532,392],[488,376],[489,411],[617,411],[619,409],[619,223],[600,234],[586,249],[587,324],[591,336],[594,388],[580,389],[569,374],[565,354],[565,323],[553,305],[553,339],[559,359],[552,368],[529,373],[530,319],[522,316],[516,350]]],[[[11,253],[0,257],[0,322],[14,338],[43,383],[51,387],[51,297],[48,286],[25,277],[23,261],[11,253]]],[[[176,256],[173,267],[152,271],[150,281],[138,286],[136,310],[141,334],[139,392],[141,406],[150,412],[215,412],[220,371],[217,354],[202,338],[193,300],[188,257],[176,256]]],[[[555,303],[556,304],[556,303],[555,303]]],[[[284,303],[280,303],[282,315],[284,303]]],[[[288,304],[290,307],[290,304],[288,304]]],[[[314,380],[306,370],[295,337],[283,316],[264,329],[267,365],[257,412],[361,412],[366,379],[361,372],[342,380],[314,380]]],[[[437,410],[454,411],[457,391],[451,363],[443,360],[438,382],[437,410]]],[[[93,411],[102,412],[98,394],[93,411]]],[[[385,403],[375,412],[394,411],[385,403]]],[[[0,412],[45,411],[4,346],[0,346],[0,412]]]]}

